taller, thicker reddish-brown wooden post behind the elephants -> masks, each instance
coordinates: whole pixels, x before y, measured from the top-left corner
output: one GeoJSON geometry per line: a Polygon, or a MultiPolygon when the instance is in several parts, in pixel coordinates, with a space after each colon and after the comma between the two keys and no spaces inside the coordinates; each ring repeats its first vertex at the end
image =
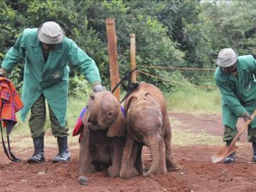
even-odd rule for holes
{"type": "MultiPolygon", "coordinates": [[[[107,18],[106,19],[106,27],[107,27],[107,47],[109,53],[110,60],[110,80],[111,80],[111,90],[113,90],[114,86],[119,82],[119,69],[117,63],[117,36],[114,28],[114,19],[107,18]]],[[[120,88],[114,91],[114,97],[117,100],[120,100],[120,88]]]]}

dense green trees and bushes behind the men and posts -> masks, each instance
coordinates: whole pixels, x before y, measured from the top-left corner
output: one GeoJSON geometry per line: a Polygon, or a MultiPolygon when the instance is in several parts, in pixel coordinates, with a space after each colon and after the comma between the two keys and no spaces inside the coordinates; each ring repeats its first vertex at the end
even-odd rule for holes
{"type": "MultiPolygon", "coordinates": [[[[183,88],[176,82],[213,85],[213,71],[146,68],[146,66],[215,68],[222,48],[256,54],[256,1],[199,0],[6,0],[0,1],[0,63],[24,28],[56,21],[66,36],[95,59],[109,89],[109,64],[105,19],[114,18],[120,76],[129,70],[129,33],[136,34],[140,74],[164,92],[183,88]]],[[[72,68],[72,63],[70,63],[72,68]]],[[[23,63],[9,76],[21,90],[23,63]]],[[[70,95],[90,87],[75,68],[70,73],[70,95]]]]}

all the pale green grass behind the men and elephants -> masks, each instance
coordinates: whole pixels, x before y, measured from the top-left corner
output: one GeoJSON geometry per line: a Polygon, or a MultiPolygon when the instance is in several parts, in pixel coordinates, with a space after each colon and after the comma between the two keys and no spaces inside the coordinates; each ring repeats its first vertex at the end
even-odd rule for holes
{"type": "MultiPolygon", "coordinates": [[[[199,90],[189,87],[178,92],[165,95],[168,110],[171,112],[189,112],[192,114],[220,114],[220,94],[218,90],[199,90]]],[[[87,97],[70,97],[68,104],[67,120],[69,126],[70,137],[68,141],[70,147],[79,147],[78,137],[72,137],[73,128],[76,120],[87,102],[87,97]]],[[[33,149],[33,142],[31,139],[30,129],[28,127],[28,114],[26,122],[21,122],[18,116],[18,124],[11,132],[12,146],[18,148],[33,149]]],[[[50,129],[50,120],[48,117],[48,110],[46,115],[46,147],[57,147],[57,141],[53,137],[50,129]]],[[[172,127],[178,126],[181,122],[176,119],[171,119],[172,127]]],[[[195,134],[193,132],[186,132],[179,129],[173,129],[174,144],[219,144],[220,137],[213,137],[206,133],[195,134]]]]}

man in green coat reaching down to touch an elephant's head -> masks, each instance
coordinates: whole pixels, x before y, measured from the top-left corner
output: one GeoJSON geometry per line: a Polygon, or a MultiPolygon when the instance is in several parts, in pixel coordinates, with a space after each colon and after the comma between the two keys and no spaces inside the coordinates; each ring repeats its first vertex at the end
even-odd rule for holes
{"type": "Polygon", "coordinates": [[[44,126],[48,102],[50,124],[53,136],[57,137],[58,154],[53,162],[69,161],[68,124],[65,119],[68,105],[68,63],[73,63],[80,73],[92,84],[94,92],[104,90],[95,61],[74,41],[65,37],[58,23],[49,21],[39,28],[26,28],[15,45],[8,50],[1,63],[0,76],[6,76],[11,69],[25,58],[21,99],[21,119],[31,110],[28,124],[33,138],[34,154],[28,163],[45,161],[44,126]]]}

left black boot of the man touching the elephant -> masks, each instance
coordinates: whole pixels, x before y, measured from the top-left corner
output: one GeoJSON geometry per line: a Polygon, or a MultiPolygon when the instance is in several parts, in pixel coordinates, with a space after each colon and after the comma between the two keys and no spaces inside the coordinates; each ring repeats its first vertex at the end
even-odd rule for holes
{"type": "Polygon", "coordinates": [[[37,137],[33,139],[33,145],[34,145],[34,154],[31,156],[31,158],[28,159],[28,164],[38,164],[43,161],[46,161],[44,157],[44,144],[43,144],[44,136],[37,137]]]}

